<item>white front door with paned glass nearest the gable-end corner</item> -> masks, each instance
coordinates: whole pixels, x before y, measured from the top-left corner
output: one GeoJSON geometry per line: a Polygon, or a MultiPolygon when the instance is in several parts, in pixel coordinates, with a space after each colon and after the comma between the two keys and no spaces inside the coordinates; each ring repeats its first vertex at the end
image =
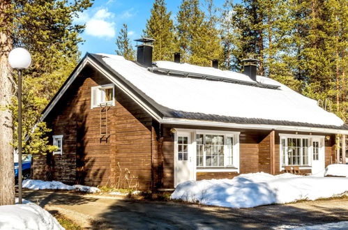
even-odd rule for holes
{"type": "Polygon", "coordinates": [[[178,132],[174,153],[174,187],[185,181],[194,180],[191,133],[178,132]]]}

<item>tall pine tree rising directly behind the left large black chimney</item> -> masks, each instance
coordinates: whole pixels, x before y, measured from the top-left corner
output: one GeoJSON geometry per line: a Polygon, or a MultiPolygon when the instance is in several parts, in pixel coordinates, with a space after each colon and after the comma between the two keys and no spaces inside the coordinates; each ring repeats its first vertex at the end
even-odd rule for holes
{"type": "Polygon", "coordinates": [[[178,52],[174,38],[174,24],[167,13],[165,0],[155,0],[151,9],[151,17],[146,22],[144,35],[153,38],[153,60],[172,61],[173,53],[178,52]]]}

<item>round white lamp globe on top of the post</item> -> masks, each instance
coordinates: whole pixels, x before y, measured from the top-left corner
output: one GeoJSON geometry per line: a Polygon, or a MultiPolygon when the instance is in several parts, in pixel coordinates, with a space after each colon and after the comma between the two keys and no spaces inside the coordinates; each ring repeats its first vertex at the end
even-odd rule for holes
{"type": "Polygon", "coordinates": [[[17,70],[26,69],[31,64],[31,56],[27,49],[15,48],[8,54],[10,66],[17,70]]]}

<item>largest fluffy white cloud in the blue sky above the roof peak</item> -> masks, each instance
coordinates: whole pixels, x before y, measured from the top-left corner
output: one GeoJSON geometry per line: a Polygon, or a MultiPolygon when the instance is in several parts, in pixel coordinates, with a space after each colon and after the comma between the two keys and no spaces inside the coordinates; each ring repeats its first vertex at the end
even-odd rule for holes
{"type": "Polygon", "coordinates": [[[107,8],[100,8],[92,17],[84,11],[78,13],[74,18],[77,24],[86,24],[85,32],[89,36],[98,38],[114,38],[116,34],[115,23],[112,22],[114,13],[109,12],[107,8]]]}

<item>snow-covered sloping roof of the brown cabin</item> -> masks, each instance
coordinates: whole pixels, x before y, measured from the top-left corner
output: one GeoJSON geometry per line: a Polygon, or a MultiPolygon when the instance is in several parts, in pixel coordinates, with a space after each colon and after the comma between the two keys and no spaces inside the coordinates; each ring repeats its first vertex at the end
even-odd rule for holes
{"type": "MultiPolygon", "coordinates": [[[[91,54],[125,82],[140,91],[163,116],[234,123],[271,123],[347,129],[335,114],[326,112],[317,101],[296,93],[267,77],[257,82],[279,86],[266,89],[245,84],[161,75],[127,61],[122,56],[91,54]]],[[[239,72],[157,61],[158,68],[195,72],[253,82],[239,72]]]]}

